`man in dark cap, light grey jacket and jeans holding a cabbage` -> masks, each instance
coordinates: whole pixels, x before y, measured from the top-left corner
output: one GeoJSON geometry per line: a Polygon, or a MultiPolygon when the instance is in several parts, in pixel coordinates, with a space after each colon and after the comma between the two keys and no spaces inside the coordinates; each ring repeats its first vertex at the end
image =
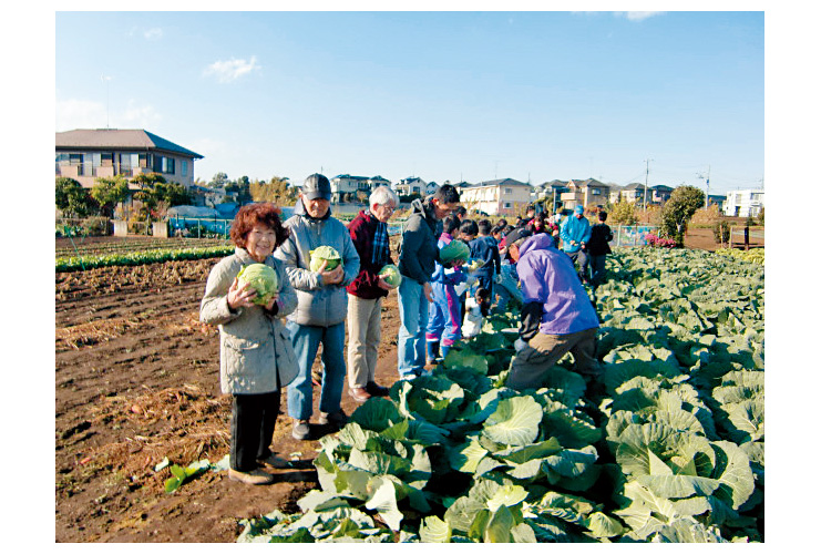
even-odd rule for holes
{"type": "Polygon", "coordinates": [[[345,387],[345,318],[348,311],[346,287],[359,273],[359,254],[346,226],[330,213],[330,182],[315,173],[305,179],[294,216],[285,222],[288,239],[274,253],[285,263],[285,271],[297,291],[297,309],[286,327],[294,341],[299,373],[288,387],[288,414],[294,419],[291,434],[307,440],[314,412],[310,368],[322,345],[322,378],[319,397],[320,425],[340,429],[347,417],[340,401],[345,387]],[[327,269],[324,261],[310,269],[310,252],[319,246],[336,249],[342,263],[327,269]]]}

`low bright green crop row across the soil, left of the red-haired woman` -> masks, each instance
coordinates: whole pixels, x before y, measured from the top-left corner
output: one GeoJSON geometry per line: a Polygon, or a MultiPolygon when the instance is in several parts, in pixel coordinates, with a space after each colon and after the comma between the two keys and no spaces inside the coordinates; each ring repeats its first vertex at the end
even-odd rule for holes
{"type": "Polygon", "coordinates": [[[203,246],[192,248],[156,248],[117,254],[65,256],[57,258],[55,271],[82,271],[95,267],[138,266],[171,260],[191,260],[227,256],[234,246],[203,246]]]}

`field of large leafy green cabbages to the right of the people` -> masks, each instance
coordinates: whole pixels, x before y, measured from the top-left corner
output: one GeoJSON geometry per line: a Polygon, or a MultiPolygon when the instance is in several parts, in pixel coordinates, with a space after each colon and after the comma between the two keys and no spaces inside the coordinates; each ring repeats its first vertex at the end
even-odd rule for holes
{"type": "Polygon", "coordinates": [[[762,256],[619,249],[597,291],[603,382],[504,386],[519,314],[320,439],[298,513],[239,542],[762,542],[762,256]]]}

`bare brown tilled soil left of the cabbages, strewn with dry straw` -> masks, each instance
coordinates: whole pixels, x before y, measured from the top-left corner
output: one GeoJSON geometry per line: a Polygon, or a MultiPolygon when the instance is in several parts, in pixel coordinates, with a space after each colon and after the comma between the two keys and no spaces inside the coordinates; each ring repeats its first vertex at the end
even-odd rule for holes
{"type": "MultiPolygon", "coordinates": [[[[58,240],[60,243],[60,240],[58,240]]],[[[61,244],[58,244],[61,246],[61,244]]],[[[691,248],[715,249],[709,229],[691,248]]],[[[198,322],[205,279],[217,259],[55,275],[55,538],[58,542],[233,542],[239,521],[296,512],[317,486],[316,441],[277,422],[274,444],[288,470],[270,486],[208,472],[166,494],[168,458],[187,465],[228,452],[229,398],[219,392],[216,328],[198,322]]],[[[397,295],[382,312],[377,381],[397,379],[397,295]]],[[[315,413],[318,411],[318,394],[315,413]]],[[[347,413],[356,408],[347,394],[347,413]]],[[[315,425],[317,437],[322,429],[315,425]]]]}

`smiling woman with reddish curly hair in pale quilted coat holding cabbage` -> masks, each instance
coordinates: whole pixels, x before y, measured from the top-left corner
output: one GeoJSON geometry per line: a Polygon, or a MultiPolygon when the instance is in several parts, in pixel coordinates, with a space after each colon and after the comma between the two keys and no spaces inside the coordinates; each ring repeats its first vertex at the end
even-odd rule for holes
{"type": "Polygon", "coordinates": [[[234,397],[228,478],[269,484],[263,465],[284,466],[269,450],[279,413],[280,391],[297,375],[283,317],[297,296],[274,250],[288,238],[279,208],[270,203],[239,208],[230,229],[236,246],[211,270],[199,320],[219,326],[219,382],[234,397]]]}

